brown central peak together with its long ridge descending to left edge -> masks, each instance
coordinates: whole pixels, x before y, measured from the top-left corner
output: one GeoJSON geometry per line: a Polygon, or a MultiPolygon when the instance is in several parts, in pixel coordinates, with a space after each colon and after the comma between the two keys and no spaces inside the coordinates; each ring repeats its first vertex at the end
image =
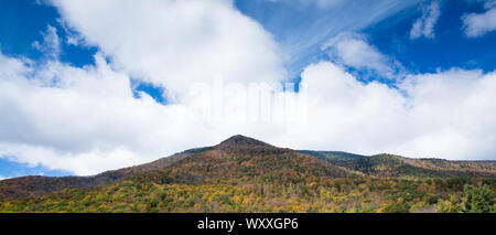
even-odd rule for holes
{"type": "Polygon", "coordinates": [[[258,175],[263,178],[298,174],[348,177],[353,173],[330,162],[290,149],[244,137],[230,137],[215,147],[185,150],[157,161],[106,171],[90,177],[21,177],[0,181],[0,201],[41,196],[64,189],[99,186],[140,174],[161,174],[161,180],[202,181],[206,178],[258,175]],[[192,158],[188,158],[192,157],[192,158]],[[182,161],[183,159],[186,159],[182,161]],[[309,163],[300,165],[301,162],[309,163]],[[175,163],[175,164],[174,164],[175,163]],[[168,168],[173,165],[172,168],[168,168]]]}

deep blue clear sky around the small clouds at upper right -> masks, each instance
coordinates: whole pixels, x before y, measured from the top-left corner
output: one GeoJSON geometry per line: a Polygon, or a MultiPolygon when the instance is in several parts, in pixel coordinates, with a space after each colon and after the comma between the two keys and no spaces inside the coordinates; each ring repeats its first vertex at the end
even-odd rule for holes
{"type": "Polygon", "coordinates": [[[396,15],[364,32],[371,35],[371,43],[385,54],[402,62],[409,71],[432,73],[453,66],[494,71],[496,61],[496,34],[467,39],[460,29],[461,15],[466,12],[484,12],[482,4],[465,1],[450,1],[442,4],[442,13],[435,25],[435,39],[410,40],[411,22],[419,17],[419,10],[407,10],[403,19],[395,22],[396,15]],[[393,24],[391,25],[391,23],[393,24]],[[429,56],[425,56],[429,55],[429,56]]]}

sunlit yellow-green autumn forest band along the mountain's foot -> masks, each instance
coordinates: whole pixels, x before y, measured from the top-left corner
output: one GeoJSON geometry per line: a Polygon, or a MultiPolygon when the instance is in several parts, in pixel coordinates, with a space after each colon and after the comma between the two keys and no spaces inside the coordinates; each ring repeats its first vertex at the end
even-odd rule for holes
{"type": "MultiPolygon", "coordinates": [[[[158,183],[139,177],[106,186],[63,190],[42,197],[3,202],[0,211],[406,213],[419,205],[435,205],[438,212],[461,212],[462,199],[455,196],[461,192],[449,189],[445,180],[438,183],[344,178],[308,183],[302,180],[294,184],[252,178],[193,184],[158,183]],[[436,194],[436,191],[444,192],[436,194]],[[435,203],[438,197],[441,199],[435,203]]],[[[477,209],[486,209],[490,203],[485,201],[487,196],[476,199],[477,209]]]]}

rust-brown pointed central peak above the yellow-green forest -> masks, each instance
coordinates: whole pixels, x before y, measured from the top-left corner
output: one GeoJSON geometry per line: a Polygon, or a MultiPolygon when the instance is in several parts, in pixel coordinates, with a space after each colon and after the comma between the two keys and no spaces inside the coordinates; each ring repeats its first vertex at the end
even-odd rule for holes
{"type": "Polygon", "coordinates": [[[162,182],[179,183],[250,178],[296,183],[311,177],[355,175],[354,172],[328,161],[242,136],[234,136],[160,171],[143,174],[155,174],[154,178],[161,179],[162,182]]]}

